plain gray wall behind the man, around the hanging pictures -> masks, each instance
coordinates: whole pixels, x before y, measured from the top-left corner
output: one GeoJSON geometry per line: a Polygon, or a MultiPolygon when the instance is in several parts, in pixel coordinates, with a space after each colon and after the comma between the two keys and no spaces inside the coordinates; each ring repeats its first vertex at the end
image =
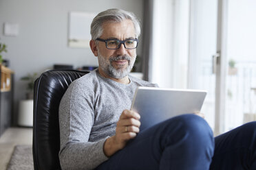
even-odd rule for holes
{"type": "MultiPolygon", "coordinates": [[[[142,23],[143,0],[0,0],[0,42],[8,45],[3,58],[10,61],[10,69],[15,73],[15,120],[19,100],[25,99],[26,84],[21,77],[40,74],[52,69],[53,64],[73,64],[75,68],[97,65],[90,49],[67,47],[68,14],[71,11],[98,13],[108,8],[132,11],[142,23]],[[19,35],[3,36],[5,22],[18,23],[19,35]]],[[[138,54],[141,47],[140,44],[138,54]]]]}

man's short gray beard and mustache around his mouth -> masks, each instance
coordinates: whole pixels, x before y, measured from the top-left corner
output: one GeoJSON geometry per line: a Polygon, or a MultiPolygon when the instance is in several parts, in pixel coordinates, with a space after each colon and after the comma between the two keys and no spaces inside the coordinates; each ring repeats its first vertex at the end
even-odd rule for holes
{"type": "Polygon", "coordinates": [[[111,56],[107,60],[104,56],[100,54],[98,50],[98,64],[100,65],[100,68],[103,69],[103,71],[107,73],[107,75],[109,75],[110,77],[121,79],[127,76],[131,72],[131,69],[134,66],[134,62],[135,62],[135,57],[128,56],[128,55],[111,56]],[[127,60],[128,66],[126,66],[125,68],[120,66],[120,68],[115,69],[114,66],[112,66],[112,62],[117,60],[127,60]]]}

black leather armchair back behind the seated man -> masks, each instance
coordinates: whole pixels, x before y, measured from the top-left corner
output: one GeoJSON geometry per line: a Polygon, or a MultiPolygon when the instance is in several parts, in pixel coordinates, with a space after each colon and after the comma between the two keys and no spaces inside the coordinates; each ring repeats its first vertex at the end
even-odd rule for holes
{"type": "Polygon", "coordinates": [[[67,87],[87,71],[52,70],[42,73],[34,84],[34,169],[61,169],[58,159],[60,134],[58,106],[67,87]]]}

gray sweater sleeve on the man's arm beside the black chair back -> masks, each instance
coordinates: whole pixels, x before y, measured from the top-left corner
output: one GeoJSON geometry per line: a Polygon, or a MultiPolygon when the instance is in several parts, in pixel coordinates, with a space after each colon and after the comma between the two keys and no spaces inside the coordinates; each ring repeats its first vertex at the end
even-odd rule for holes
{"type": "Polygon", "coordinates": [[[81,91],[72,84],[61,100],[59,158],[62,169],[94,169],[107,160],[103,153],[106,138],[89,142],[94,124],[94,93],[88,90],[81,91]]]}

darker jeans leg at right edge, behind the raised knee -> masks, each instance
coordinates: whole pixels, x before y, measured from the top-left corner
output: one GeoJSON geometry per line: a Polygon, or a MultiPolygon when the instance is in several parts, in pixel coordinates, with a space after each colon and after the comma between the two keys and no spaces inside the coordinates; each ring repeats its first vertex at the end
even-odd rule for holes
{"type": "Polygon", "coordinates": [[[256,121],[215,137],[210,169],[256,169],[256,121]]]}

